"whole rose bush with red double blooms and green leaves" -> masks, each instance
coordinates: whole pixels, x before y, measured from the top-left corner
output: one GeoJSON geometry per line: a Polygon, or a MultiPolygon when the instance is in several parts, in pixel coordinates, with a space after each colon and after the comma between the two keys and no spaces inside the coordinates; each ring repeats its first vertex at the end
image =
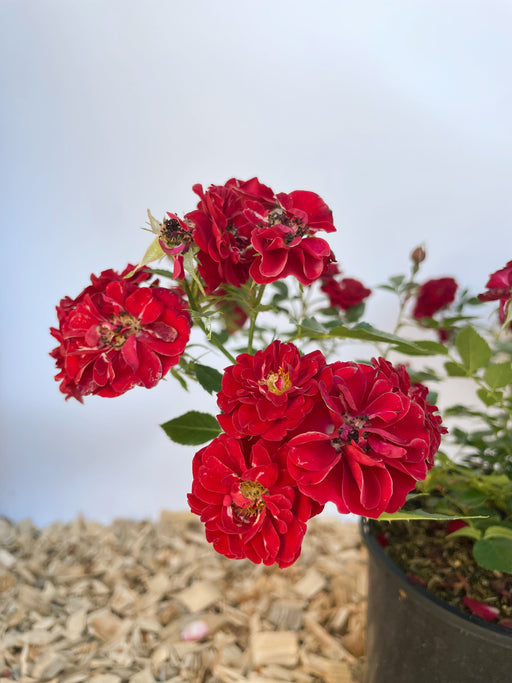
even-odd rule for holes
{"type": "MultiPolygon", "coordinates": [[[[178,443],[209,441],[193,458],[188,501],[227,557],[286,567],[300,554],[308,520],[326,503],[366,517],[421,518],[421,509],[408,509],[409,493],[418,500],[438,486],[449,514],[469,519],[454,533],[480,534],[484,549],[499,536],[500,557],[512,568],[512,538],[503,531],[510,536],[512,494],[504,502],[485,489],[486,504],[498,511],[489,539],[490,522],[475,526],[473,508],[459,501],[453,479],[443,478],[455,467],[462,481],[466,470],[457,468],[468,463],[482,476],[512,477],[510,346],[491,346],[488,332],[469,324],[476,316],[466,309],[478,299],[452,277],[419,284],[426,250],[416,247],[410,274],[380,286],[397,295],[399,310],[395,329],[379,330],[359,322],[372,290],[342,276],[319,236],[335,230],[319,195],[276,193],[257,178],[193,189],[199,201],[182,218],[167,213],[160,222],[148,212],[154,239],[137,266],[91,276],[75,299],[60,302],[51,355],[66,398],[151,388],[169,372],[184,388],[196,381],[215,392],[216,417],[191,411],[162,427],[178,443]],[[148,267],[160,259],[171,269],[148,267]],[[169,286],[151,281],[154,275],[169,286]],[[223,372],[194,356],[192,323],[222,354],[223,372]],[[415,334],[406,336],[411,325],[415,334]],[[418,338],[418,330],[443,343],[418,338]],[[368,360],[340,351],[347,340],[371,344],[368,360]],[[428,364],[418,367],[428,356],[444,359],[445,377],[428,364]],[[448,417],[478,415],[489,426],[475,436],[452,430],[463,448],[460,466],[439,451],[447,429],[424,384],[442,386],[446,375],[473,379],[485,405],[480,412],[455,407],[448,417]],[[467,454],[476,444],[479,453],[467,454]]],[[[499,301],[501,322],[511,322],[512,261],[487,288],[480,300],[499,301]]],[[[468,481],[466,493],[477,487],[475,478],[468,481]]]]}

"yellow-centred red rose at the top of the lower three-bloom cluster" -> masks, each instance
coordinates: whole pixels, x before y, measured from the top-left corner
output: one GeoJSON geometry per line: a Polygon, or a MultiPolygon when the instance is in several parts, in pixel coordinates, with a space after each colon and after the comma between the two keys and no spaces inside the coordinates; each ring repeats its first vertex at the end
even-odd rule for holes
{"type": "Polygon", "coordinates": [[[319,400],[320,351],[301,356],[293,344],[272,342],[253,356],[240,354],[224,371],[217,419],[231,436],[279,441],[295,429],[319,400]]]}

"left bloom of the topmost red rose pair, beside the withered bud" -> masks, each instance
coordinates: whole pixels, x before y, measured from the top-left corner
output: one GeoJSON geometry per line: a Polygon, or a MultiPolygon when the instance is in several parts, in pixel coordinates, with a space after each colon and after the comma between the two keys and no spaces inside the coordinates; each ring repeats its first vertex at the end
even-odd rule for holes
{"type": "Polygon", "coordinates": [[[232,178],[225,185],[211,185],[193,190],[200,201],[196,211],[185,218],[194,224],[194,241],[199,247],[199,273],[208,292],[222,284],[240,287],[249,278],[254,258],[251,246],[253,224],[245,210],[261,212],[275,203],[274,193],[257,178],[240,181],[232,178]]]}

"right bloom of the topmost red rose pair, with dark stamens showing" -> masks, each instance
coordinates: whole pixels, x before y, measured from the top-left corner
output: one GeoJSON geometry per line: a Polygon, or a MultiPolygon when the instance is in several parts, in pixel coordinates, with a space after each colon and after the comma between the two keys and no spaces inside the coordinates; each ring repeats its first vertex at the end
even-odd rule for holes
{"type": "Polygon", "coordinates": [[[277,195],[278,205],[260,216],[251,237],[256,257],[250,275],[267,284],[293,275],[310,285],[332,259],[328,243],[314,237],[318,230],[333,232],[332,212],[314,192],[297,190],[277,195]]]}

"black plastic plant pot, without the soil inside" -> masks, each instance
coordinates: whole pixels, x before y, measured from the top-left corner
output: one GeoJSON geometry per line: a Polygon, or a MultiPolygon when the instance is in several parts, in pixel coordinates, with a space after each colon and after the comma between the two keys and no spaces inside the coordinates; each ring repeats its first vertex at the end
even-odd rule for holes
{"type": "Polygon", "coordinates": [[[366,683],[512,683],[512,632],[413,585],[361,524],[368,548],[366,683]]]}

